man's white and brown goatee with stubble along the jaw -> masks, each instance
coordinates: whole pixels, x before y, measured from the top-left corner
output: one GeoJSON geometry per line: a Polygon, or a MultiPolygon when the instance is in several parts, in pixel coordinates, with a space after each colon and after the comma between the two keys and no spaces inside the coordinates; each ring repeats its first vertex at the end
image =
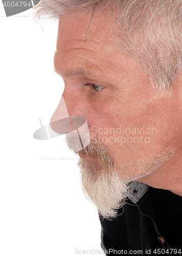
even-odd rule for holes
{"type": "MultiPolygon", "coordinates": [[[[66,135],[66,143],[72,151],[77,152],[74,135],[66,135]]],[[[173,148],[167,148],[165,152],[147,160],[117,166],[101,143],[91,142],[78,153],[79,156],[87,155],[92,159],[87,161],[80,158],[78,163],[84,194],[103,218],[116,217],[117,209],[129,196],[128,183],[152,173],[174,152],[173,148]]]]}

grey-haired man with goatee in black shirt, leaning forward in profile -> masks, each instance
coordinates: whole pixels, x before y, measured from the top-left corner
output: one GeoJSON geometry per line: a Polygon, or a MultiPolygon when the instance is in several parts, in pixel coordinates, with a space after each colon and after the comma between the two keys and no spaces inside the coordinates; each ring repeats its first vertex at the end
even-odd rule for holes
{"type": "MultiPolygon", "coordinates": [[[[37,8],[38,17],[59,18],[54,65],[63,98],[69,116],[88,122],[91,143],[77,154],[102,249],[180,255],[181,0],[50,0],[37,8]]],[[[61,102],[51,123],[63,118],[61,102]]],[[[67,136],[77,152],[75,140],[67,136]]]]}

